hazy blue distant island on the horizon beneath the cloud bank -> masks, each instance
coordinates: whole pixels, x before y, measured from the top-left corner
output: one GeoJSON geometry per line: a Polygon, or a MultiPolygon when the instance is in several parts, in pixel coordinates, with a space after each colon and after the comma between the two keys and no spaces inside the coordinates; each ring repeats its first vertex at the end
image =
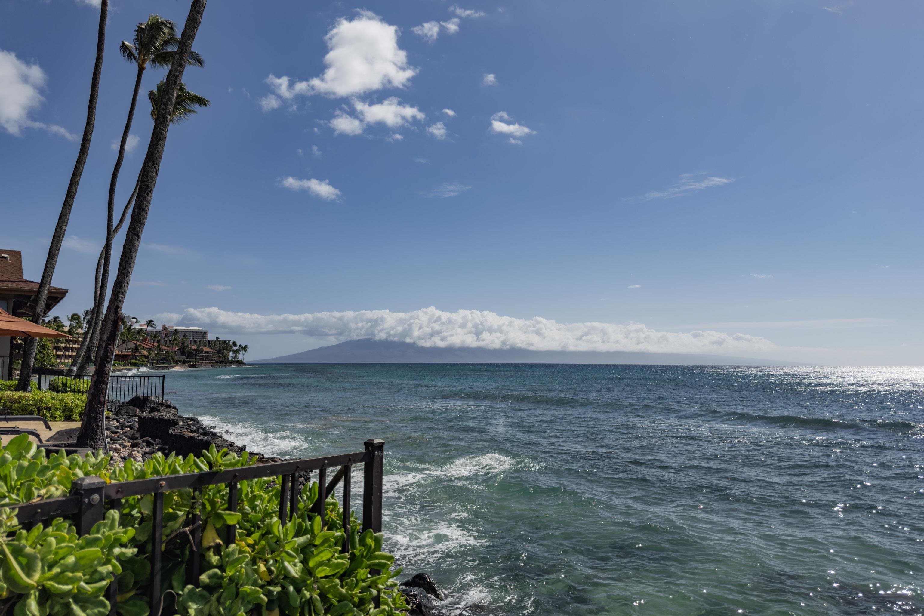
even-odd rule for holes
{"type": "Polygon", "coordinates": [[[658,364],[672,366],[805,366],[794,361],[647,353],[642,351],[528,351],[440,348],[387,340],[350,340],[252,364],[658,364]]]}

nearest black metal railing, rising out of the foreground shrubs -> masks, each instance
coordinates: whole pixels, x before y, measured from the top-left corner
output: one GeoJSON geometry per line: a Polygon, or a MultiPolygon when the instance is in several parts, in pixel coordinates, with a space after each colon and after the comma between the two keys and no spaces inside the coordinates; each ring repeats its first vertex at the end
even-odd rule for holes
{"type": "MultiPolygon", "coordinates": [[[[289,460],[264,465],[242,466],[220,471],[205,471],[202,473],[188,473],[186,475],[167,475],[164,477],[151,477],[136,479],[134,481],[121,481],[107,484],[100,477],[79,477],[71,485],[70,495],[59,499],[30,502],[18,505],[5,505],[16,513],[20,525],[29,527],[43,520],[55,517],[72,517],[79,535],[87,535],[97,522],[103,520],[106,510],[106,501],[110,509],[121,506],[121,500],[129,496],[153,495],[153,525],[151,533],[151,582],[149,598],[151,613],[159,614],[163,605],[161,594],[161,574],[163,557],[161,554],[164,535],[164,493],[176,489],[193,489],[195,498],[201,499],[202,488],[206,486],[227,485],[228,511],[237,512],[237,484],[249,479],[262,477],[279,477],[279,519],[284,523],[298,513],[298,476],[307,475],[310,481],[313,471],[318,471],[318,499],[314,501],[311,511],[320,514],[322,527],[326,525],[324,519],[324,502],[328,496],[334,495],[334,489],[342,481],[343,526],[346,539],[343,550],[349,550],[349,515],[350,515],[350,476],[353,465],[363,465],[362,490],[362,529],[371,528],[373,533],[382,531],[382,493],[383,493],[383,462],[384,441],[370,439],[365,443],[365,451],[357,453],[342,453],[321,458],[306,460],[289,460]],[[327,469],[339,466],[339,470],[328,483],[327,469]]],[[[192,550],[189,552],[189,566],[187,570],[187,584],[199,585],[200,553],[202,548],[202,528],[200,518],[201,501],[193,503],[190,510],[192,519],[191,530],[192,550]]],[[[267,524],[269,521],[267,521],[267,524]]],[[[237,525],[228,526],[228,537],[235,537],[237,525]]],[[[233,541],[233,539],[232,539],[233,541]]],[[[371,570],[370,575],[379,575],[381,571],[371,570]]],[[[110,614],[116,616],[116,596],[118,583],[116,577],[109,585],[108,598],[110,614]]]]}

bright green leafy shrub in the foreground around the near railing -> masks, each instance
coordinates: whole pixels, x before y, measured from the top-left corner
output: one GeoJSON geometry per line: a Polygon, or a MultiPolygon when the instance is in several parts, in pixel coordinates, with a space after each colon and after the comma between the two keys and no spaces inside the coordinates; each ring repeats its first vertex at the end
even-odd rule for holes
{"type": "MultiPolygon", "coordinates": [[[[253,461],[247,453],[237,456],[226,450],[217,452],[214,446],[203,452],[201,458],[189,455],[184,459],[174,454],[164,457],[155,453],[143,464],[128,460],[110,466],[109,457],[102,453],[83,457],[55,453],[46,460],[43,450],[19,436],[10,441],[0,455],[0,505],[65,494],[74,477],[85,475],[98,475],[107,482],[116,482],[235,468],[253,461]]],[[[237,512],[234,513],[227,510],[228,488],[224,485],[202,489],[201,501],[194,499],[190,489],[164,493],[164,534],[159,537],[164,546],[160,588],[164,595],[164,614],[384,616],[400,613],[407,607],[402,595],[395,590],[397,583],[393,578],[400,569],[389,571],[394,557],[382,551],[381,533],[373,534],[371,530],[360,533],[359,521],[351,513],[349,545],[343,550],[346,534],[337,501],[328,499],[325,502],[325,530],[322,530],[321,517],[310,512],[311,504],[318,497],[316,482],[303,487],[298,513],[286,524],[278,519],[279,497],[280,486],[275,477],[241,481],[237,512]],[[204,573],[200,575],[198,586],[188,586],[189,544],[185,531],[190,529],[195,511],[201,513],[204,525],[200,557],[204,573]],[[229,524],[237,525],[234,537],[227,537],[229,524]],[[383,574],[373,576],[371,569],[380,569],[383,574]],[[381,601],[378,608],[375,598],[381,601]]],[[[100,550],[99,554],[92,553],[93,563],[101,565],[106,575],[116,575],[119,611],[124,616],[148,613],[152,504],[152,495],[122,499],[118,510],[107,512],[105,520],[95,525],[88,536],[91,537],[88,545],[98,546],[100,550]]],[[[76,546],[73,533],[68,531],[70,526],[66,528],[60,520],[55,520],[51,526],[56,530],[45,535],[46,531],[38,525],[35,527],[38,531],[35,528],[29,533],[18,530],[10,510],[0,512],[0,520],[6,520],[6,525],[0,526],[5,537],[5,549],[0,550],[0,610],[8,601],[17,603],[13,611],[17,615],[40,613],[30,611],[35,605],[40,607],[42,614],[80,613],[78,609],[87,614],[108,613],[109,604],[103,598],[103,591],[97,594],[98,586],[93,586],[102,587],[103,578],[94,577],[89,568],[79,568],[67,561],[84,576],[81,580],[86,587],[78,583],[76,591],[73,590],[75,586],[63,588],[46,581],[57,579],[55,574],[49,577],[46,572],[55,571],[58,565],[54,558],[45,564],[42,550],[48,549],[43,537],[59,533],[54,536],[67,537],[67,540],[58,539],[59,547],[63,543],[76,546]],[[14,531],[15,537],[10,537],[14,531]],[[14,543],[16,547],[12,548],[14,543]],[[16,563],[18,568],[11,566],[16,563]],[[20,576],[28,579],[20,580],[20,576]],[[34,586],[30,586],[30,582],[34,586]],[[64,609],[62,598],[53,597],[58,591],[73,600],[77,607],[70,611],[64,609]],[[63,610],[55,612],[42,607],[53,605],[63,610]]],[[[77,579],[68,577],[67,582],[77,579]]]]}

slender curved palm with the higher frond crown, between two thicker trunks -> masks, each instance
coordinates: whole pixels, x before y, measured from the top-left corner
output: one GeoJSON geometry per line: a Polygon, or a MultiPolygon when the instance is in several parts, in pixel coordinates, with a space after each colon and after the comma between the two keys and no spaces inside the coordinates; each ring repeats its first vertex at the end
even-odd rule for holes
{"type": "MultiPolygon", "coordinates": [[[[132,199],[128,199],[128,203],[122,211],[118,227],[114,227],[113,219],[116,213],[116,184],[118,183],[119,170],[122,168],[123,160],[125,160],[128,134],[131,130],[131,123],[135,116],[135,107],[138,103],[138,93],[141,89],[141,77],[144,75],[144,70],[149,64],[154,67],[170,66],[176,56],[176,45],[178,43],[179,39],[176,38],[176,23],[170,19],[151,15],[147,21],[142,21],[135,28],[135,38],[132,42],[123,41],[119,44],[119,52],[128,62],[137,66],[138,73],[135,77],[135,89],[131,94],[131,104],[128,106],[128,119],[126,119],[125,128],[122,130],[122,141],[119,144],[116,166],[113,168],[113,175],[109,180],[109,202],[106,210],[106,241],[103,246],[103,252],[100,254],[100,259],[96,264],[96,279],[94,281],[95,286],[93,287],[93,324],[91,327],[91,335],[87,344],[80,344],[80,348],[78,349],[81,374],[89,370],[89,357],[94,355],[96,345],[99,342],[100,328],[103,325],[101,314],[103,312],[103,301],[105,299],[105,290],[109,286],[109,263],[112,260],[113,238],[116,236],[116,233],[118,233],[118,228],[120,228],[125,221],[126,214],[128,213],[128,205],[136,194],[135,191],[132,192],[132,199]],[[84,359],[84,356],[86,356],[87,359],[84,359]]],[[[187,54],[187,62],[193,66],[203,65],[201,56],[191,50],[187,54]]],[[[135,186],[137,190],[137,182],[135,186]]]]}

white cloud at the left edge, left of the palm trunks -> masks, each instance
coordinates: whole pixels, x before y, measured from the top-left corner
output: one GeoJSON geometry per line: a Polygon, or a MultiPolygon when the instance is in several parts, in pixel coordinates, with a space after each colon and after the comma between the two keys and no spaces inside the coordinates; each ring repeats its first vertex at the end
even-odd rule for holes
{"type": "Polygon", "coordinates": [[[0,49],[0,127],[16,137],[22,137],[23,128],[39,128],[74,141],[77,135],[67,128],[30,118],[45,100],[39,91],[46,80],[41,66],[27,64],[16,54],[0,49]]]}

